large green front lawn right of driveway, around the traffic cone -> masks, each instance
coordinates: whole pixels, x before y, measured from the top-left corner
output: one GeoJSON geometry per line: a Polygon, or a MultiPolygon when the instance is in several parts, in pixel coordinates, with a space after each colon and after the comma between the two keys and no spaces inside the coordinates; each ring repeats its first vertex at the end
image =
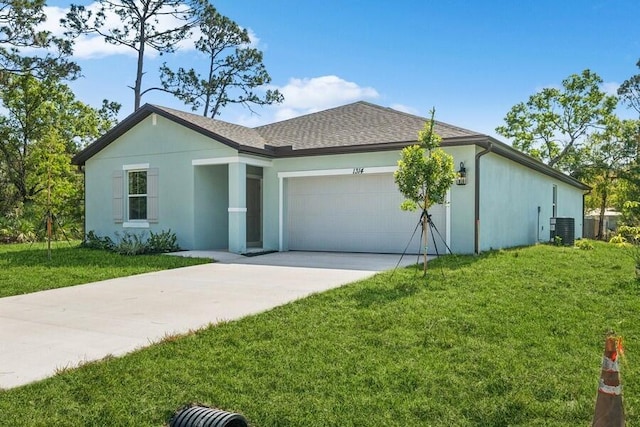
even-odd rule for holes
{"type": "Polygon", "coordinates": [[[639,297],[611,245],[447,257],[0,392],[0,424],[160,426],[199,402],[253,426],[586,426],[615,329],[639,425],[639,297]]]}

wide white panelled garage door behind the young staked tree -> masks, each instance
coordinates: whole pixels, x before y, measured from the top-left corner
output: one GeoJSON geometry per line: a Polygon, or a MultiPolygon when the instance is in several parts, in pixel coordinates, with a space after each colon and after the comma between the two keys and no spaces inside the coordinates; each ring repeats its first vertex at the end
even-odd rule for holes
{"type": "MultiPolygon", "coordinates": [[[[287,231],[290,250],[420,253],[420,212],[400,210],[403,196],[393,175],[361,174],[287,179],[287,231]]],[[[432,220],[446,239],[444,206],[432,220]]],[[[444,242],[436,236],[438,251],[444,242]]],[[[431,238],[428,252],[435,254],[431,238]]]]}

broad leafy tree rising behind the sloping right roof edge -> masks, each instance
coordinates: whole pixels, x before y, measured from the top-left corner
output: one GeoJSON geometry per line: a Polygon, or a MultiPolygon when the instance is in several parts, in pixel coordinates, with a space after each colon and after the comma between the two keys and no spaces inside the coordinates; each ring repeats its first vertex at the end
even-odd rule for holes
{"type": "Polygon", "coordinates": [[[496,132],[536,159],[574,174],[580,168],[589,135],[605,126],[618,99],[600,89],[602,79],[590,70],[572,74],[562,88],[544,88],[516,104],[496,132]]]}

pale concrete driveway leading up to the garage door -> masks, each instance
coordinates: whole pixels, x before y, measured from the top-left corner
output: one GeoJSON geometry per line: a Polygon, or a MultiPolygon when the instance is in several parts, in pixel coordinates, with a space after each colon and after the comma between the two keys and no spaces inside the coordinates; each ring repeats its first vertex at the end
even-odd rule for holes
{"type": "MultiPolygon", "coordinates": [[[[228,253],[220,262],[0,298],[0,388],[393,269],[399,255],[228,253]]],[[[415,263],[405,256],[401,265],[415,263]]]]}

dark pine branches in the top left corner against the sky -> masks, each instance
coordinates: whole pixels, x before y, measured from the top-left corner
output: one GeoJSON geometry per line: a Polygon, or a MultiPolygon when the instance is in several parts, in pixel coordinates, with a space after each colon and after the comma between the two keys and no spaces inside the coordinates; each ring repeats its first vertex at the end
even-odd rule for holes
{"type": "Polygon", "coordinates": [[[71,41],[37,29],[47,19],[44,5],[45,0],[0,0],[1,79],[16,73],[39,78],[78,76],[80,68],[69,60],[71,41]]]}

